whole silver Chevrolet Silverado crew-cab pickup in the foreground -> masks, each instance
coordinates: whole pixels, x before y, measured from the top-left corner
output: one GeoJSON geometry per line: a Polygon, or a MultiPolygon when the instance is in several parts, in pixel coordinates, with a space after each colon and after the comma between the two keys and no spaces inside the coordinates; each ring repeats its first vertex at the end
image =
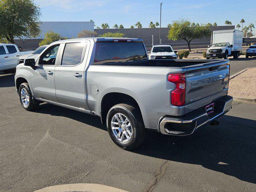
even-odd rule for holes
{"type": "Polygon", "coordinates": [[[16,68],[20,103],[42,102],[100,116],[132,150],[146,129],[185,136],[231,109],[229,60],[148,60],[141,39],[82,38],[50,44],[16,68]]]}

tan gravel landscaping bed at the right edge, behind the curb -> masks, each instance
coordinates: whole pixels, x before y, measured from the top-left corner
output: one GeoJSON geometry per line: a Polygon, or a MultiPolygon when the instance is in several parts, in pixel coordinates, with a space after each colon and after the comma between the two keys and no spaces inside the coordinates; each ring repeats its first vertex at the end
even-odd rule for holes
{"type": "Polygon", "coordinates": [[[249,68],[229,82],[228,94],[234,98],[256,99],[256,68],[249,68]]]}

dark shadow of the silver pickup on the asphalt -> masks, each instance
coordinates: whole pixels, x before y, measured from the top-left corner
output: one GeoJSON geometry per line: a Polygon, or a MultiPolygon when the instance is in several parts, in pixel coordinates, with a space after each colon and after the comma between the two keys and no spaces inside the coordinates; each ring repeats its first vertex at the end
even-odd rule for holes
{"type": "MultiPolygon", "coordinates": [[[[70,111],[51,104],[42,104],[35,112],[64,116],[106,130],[106,124],[102,125],[99,117],[70,111]]],[[[148,131],[146,142],[131,152],[168,160],[170,164],[174,161],[202,165],[204,168],[256,184],[255,138],[255,120],[224,115],[219,126],[202,127],[191,136],[166,136],[148,131]]]]}

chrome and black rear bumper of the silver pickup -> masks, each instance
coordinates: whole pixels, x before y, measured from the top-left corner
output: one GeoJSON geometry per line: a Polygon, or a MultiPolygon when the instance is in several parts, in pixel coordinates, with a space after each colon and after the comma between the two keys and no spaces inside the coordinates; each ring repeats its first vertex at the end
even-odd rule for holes
{"type": "Polygon", "coordinates": [[[182,116],[181,118],[165,116],[159,120],[159,129],[162,134],[185,136],[194,133],[197,128],[209,124],[228,112],[232,106],[233,98],[224,96],[214,102],[214,112],[207,114],[205,106],[182,116]]]}

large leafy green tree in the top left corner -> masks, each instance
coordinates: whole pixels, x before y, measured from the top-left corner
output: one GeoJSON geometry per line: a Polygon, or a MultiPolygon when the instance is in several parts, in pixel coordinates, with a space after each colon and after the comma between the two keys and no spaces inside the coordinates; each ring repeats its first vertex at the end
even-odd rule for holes
{"type": "Polygon", "coordinates": [[[14,38],[40,34],[40,8],[33,0],[0,0],[0,38],[14,43],[14,38]]]}

